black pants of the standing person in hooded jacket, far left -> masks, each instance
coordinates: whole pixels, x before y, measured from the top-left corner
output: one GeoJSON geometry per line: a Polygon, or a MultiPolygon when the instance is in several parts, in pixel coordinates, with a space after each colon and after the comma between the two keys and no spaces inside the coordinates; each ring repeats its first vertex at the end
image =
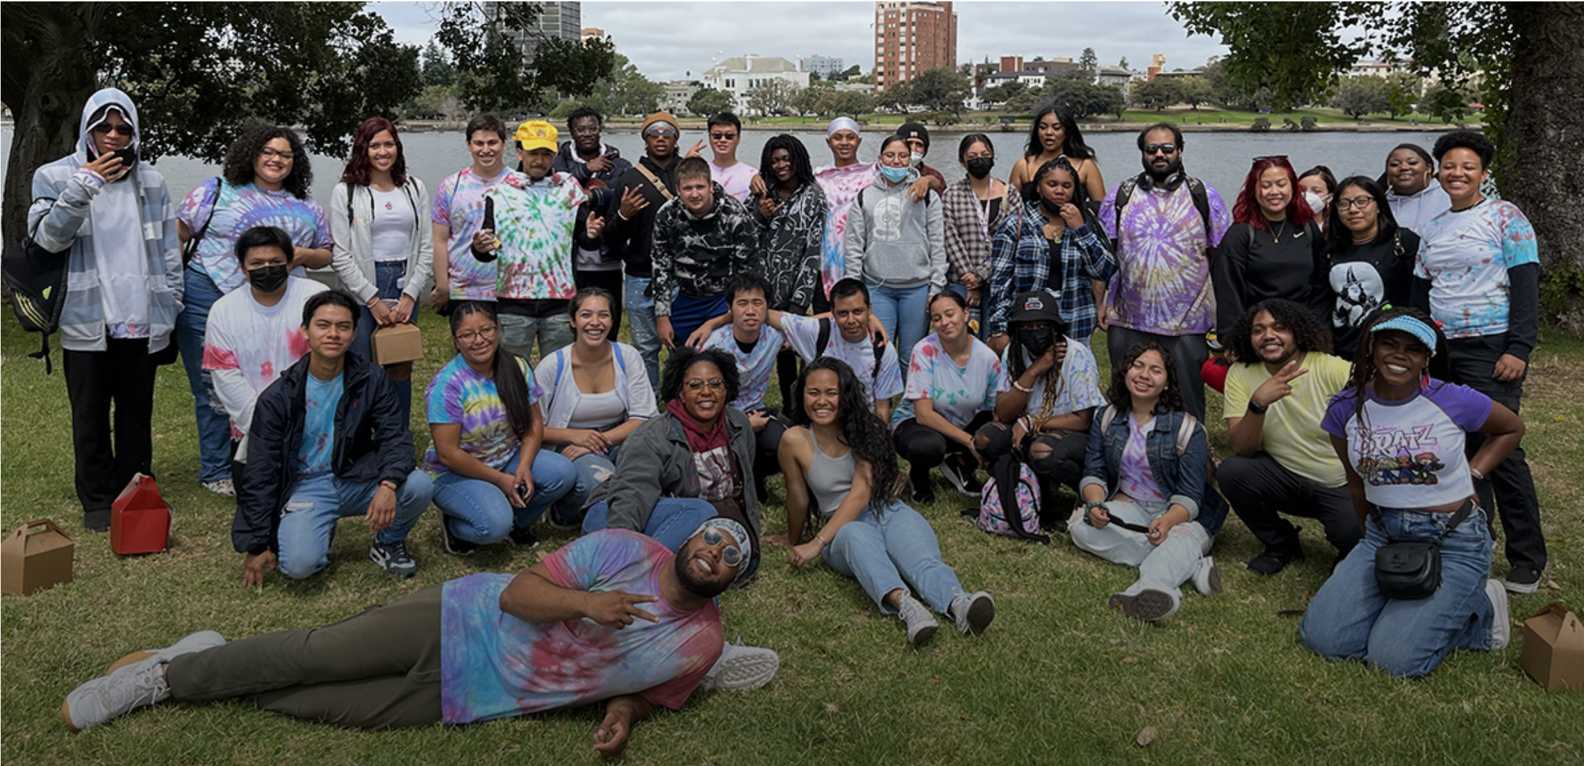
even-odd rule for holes
{"type": "Polygon", "coordinates": [[[103,351],[63,350],[62,356],[67,399],[71,400],[78,502],[84,513],[108,511],[133,475],[154,475],[154,374],[158,367],[149,359],[147,339],[106,339],[103,351]]]}

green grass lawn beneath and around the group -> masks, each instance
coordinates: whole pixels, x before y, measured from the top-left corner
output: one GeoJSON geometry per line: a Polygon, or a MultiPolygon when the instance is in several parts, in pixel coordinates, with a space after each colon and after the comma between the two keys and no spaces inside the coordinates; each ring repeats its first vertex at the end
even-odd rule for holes
{"type": "MultiPolygon", "coordinates": [[[[442,321],[423,315],[429,355],[418,380],[447,361],[442,321]]],[[[1524,415],[1530,462],[1551,543],[1548,589],[1513,598],[1524,617],[1552,598],[1584,609],[1584,342],[1552,331],[1535,351],[1524,415]]],[[[348,519],[329,570],[303,582],[272,574],[241,587],[231,551],[231,503],[195,483],[196,440],[179,366],[160,372],[155,470],[176,508],[165,554],[117,557],[108,535],[81,529],[71,487],[68,404],[60,375],[24,355],[33,336],[0,332],[0,529],[48,516],[71,533],[76,579],[0,601],[6,763],[596,763],[602,714],[580,709],[475,726],[393,733],[336,730],[242,703],[165,704],[70,734],[60,703],[120,655],[201,628],[236,639],[307,628],[477,570],[516,571],[565,543],[540,525],[532,552],[494,546],[470,559],[440,548],[434,516],[410,544],[417,578],[386,579],[367,562],[367,525],[348,519]]],[[[1102,339],[1095,348],[1104,351],[1102,339]]],[[[59,351],[55,362],[60,362],[59,351]]],[[[420,386],[421,391],[421,386],[420,386]]],[[[771,386],[771,392],[775,386],[771,386]]],[[[1212,396],[1212,411],[1220,399],[1212,396]]],[[[421,418],[421,407],[418,415],[421,418]]],[[[418,430],[420,448],[426,430],[418,430]]],[[[1226,451],[1226,429],[1212,423],[1226,451]]],[[[1506,650],[1462,652],[1422,681],[1394,681],[1357,663],[1308,655],[1297,614],[1324,582],[1332,551],[1304,522],[1308,560],[1275,578],[1242,562],[1258,544],[1236,519],[1215,556],[1226,593],[1185,597],[1164,627],[1106,609],[1133,570],[1050,546],[990,537],[960,519],[969,505],[936,480],[931,521],[946,560],[969,589],[995,593],[998,617],[980,638],[946,627],[912,650],[901,624],[879,616],[857,582],[822,565],[792,571],[782,549],[759,581],[722,597],[727,636],[781,652],[781,674],[748,695],[699,695],[676,714],[642,723],[630,763],[730,766],[832,763],[1491,763],[1584,761],[1584,695],[1546,695],[1519,666],[1521,631],[1506,650]],[[1155,726],[1140,749],[1134,738],[1155,726]]],[[[784,530],[779,478],[765,532],[784,530]]],[[[1058,502],[1071,503],[1069,497],[1058,502]]],[[[1505,562],[1497,562],[1505,573],[1505,562]]],[[[1190,589],[1191,590],[1191,589],[1190,589]]]]}

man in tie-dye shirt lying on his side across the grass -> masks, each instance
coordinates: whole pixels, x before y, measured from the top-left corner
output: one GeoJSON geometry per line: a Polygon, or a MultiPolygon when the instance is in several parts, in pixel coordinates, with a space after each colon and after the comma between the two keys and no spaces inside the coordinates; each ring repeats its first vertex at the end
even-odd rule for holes
{"type": "Polygon", "coordinates": [[[681,551],[629,530],[567,543],[512,576],[431,586],[318,630],[225,643],[193,633],[128,654],[70,695],[73,731],[138,707],[246,700],[339,726],[472,723],[605,701],[594,749],[678,709],[721,657],[714,597],[743,576],[752,538],[714,518],[681,551]]]}

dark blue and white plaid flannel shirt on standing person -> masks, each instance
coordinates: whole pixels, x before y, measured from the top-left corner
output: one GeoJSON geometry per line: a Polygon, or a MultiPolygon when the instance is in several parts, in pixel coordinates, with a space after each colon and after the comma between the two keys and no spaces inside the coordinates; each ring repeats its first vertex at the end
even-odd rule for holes
{"type": "Polygon", "coordinates": [[[1061,229],[1061,285],[1050,285],[1050,245],[1039,203],[1022,206],[1017,214],[1001,218],[995,244],[990,247],[990,334],[1006,332],[1012,299],[1030,290],[1049,288],[1060,294],[1057,307],[1071,326],[1068,336],[1088,340],[1095,334],[1095,293],[1090,280],[1109,282],[1117,274],[1117,256],[1104,239],[1099,223],[1061,229]]]}

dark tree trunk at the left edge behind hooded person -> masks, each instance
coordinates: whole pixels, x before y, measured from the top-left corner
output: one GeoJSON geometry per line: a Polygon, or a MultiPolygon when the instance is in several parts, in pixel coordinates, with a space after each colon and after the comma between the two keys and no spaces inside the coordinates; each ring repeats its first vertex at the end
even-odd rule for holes
{"type": "Polygon", "coordinates": [[[82,104],[97,90],[90,51],[101,3],[5,3],[5,103],[16,120],[0,201],[0,237],[27,234],[33,171],[71,154],[82,104]]]}

